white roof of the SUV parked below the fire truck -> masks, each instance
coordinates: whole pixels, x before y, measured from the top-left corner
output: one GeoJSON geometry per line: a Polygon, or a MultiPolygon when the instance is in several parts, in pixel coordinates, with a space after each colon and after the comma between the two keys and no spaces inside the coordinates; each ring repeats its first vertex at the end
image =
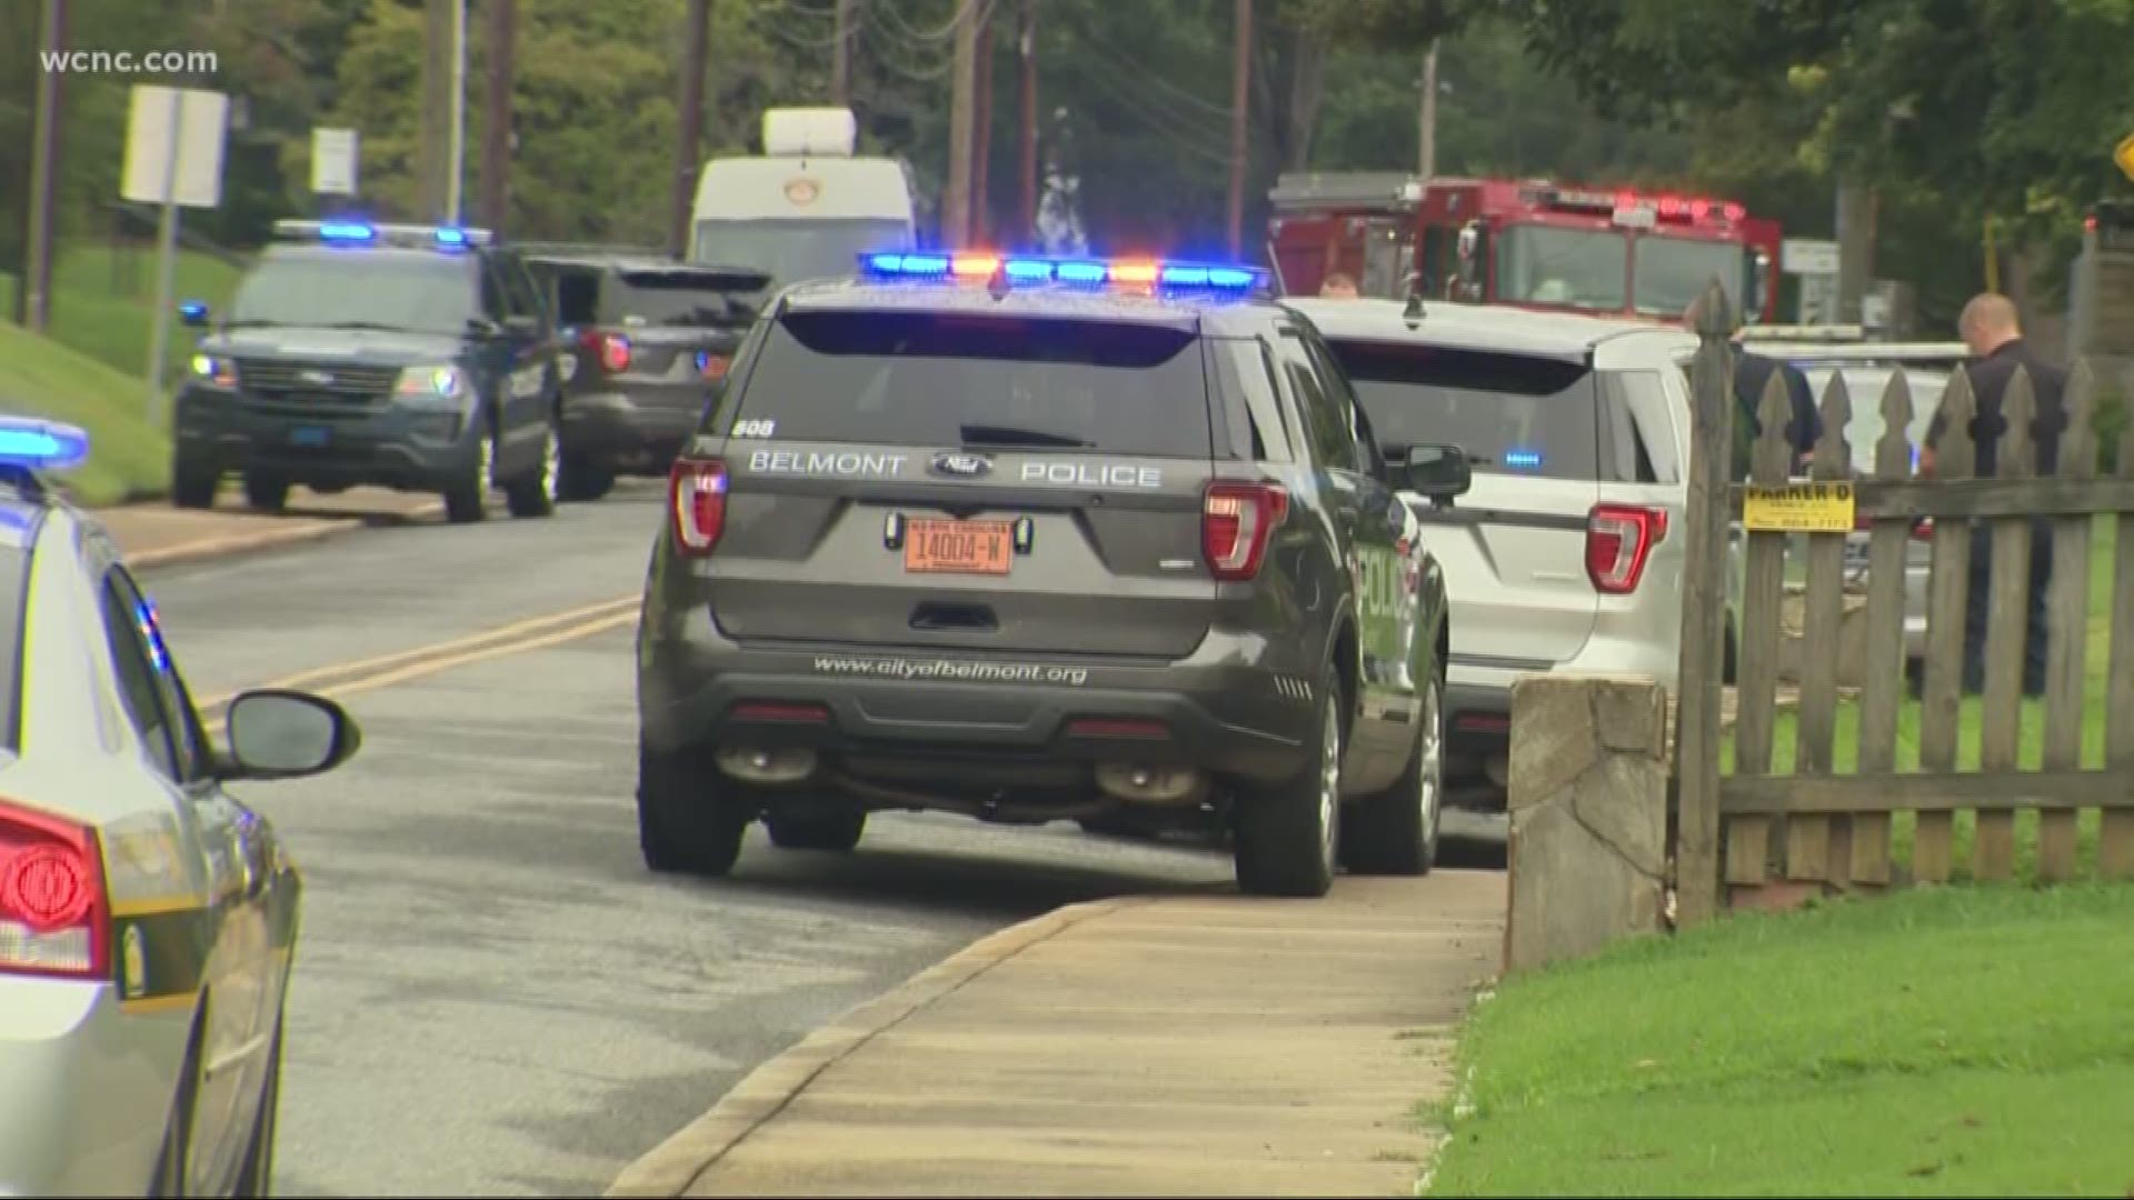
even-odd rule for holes
{"type": "Polygon", "coordinates": [[[1511,305],[1423,303],[1421,320],[1406,320],[1406,305],[1389,299],[1293,297],[1287,307],[1310,318],[1327,337],[1379,337],[1387,342],[1434,342],[1462,350],[1500,350],[1534,357],[1586,361],[1603,344],[1635,335],[1694,335],[1671,325],[1611,320],[1575,312],[1532,312],[1511,305]]]}

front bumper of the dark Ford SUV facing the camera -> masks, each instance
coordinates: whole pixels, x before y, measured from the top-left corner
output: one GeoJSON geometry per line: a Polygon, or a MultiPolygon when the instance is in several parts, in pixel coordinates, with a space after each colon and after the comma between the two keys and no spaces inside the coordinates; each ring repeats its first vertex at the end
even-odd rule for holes
{"type": "Polygon", "coordinates": [[[472,425],[455,408],[382,401],[361,414],[305,416],[196,386],[179,389],[173,431],[188,463],[299,485],[440,491],[480,453],[472,425]]]}

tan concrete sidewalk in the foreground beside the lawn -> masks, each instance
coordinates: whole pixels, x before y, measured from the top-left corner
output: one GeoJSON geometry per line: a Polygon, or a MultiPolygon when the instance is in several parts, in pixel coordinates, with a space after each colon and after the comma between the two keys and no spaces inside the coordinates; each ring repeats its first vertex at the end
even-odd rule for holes
{"type": "Polygon", "coordinates": [[[1058,910],[764,1063],[608,1196],[1413,1196],[1504,895],[1058,910]]]}

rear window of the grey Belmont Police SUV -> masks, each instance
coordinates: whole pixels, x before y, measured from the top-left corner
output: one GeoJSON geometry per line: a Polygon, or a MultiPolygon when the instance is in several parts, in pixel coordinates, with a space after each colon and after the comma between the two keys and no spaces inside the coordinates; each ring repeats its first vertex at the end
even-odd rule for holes
{"type": "Polygon", "coordinates": [[[734,416],[796,442],[1210,455],[1199,337],[1105,320],[790,312],[734,416]]]}

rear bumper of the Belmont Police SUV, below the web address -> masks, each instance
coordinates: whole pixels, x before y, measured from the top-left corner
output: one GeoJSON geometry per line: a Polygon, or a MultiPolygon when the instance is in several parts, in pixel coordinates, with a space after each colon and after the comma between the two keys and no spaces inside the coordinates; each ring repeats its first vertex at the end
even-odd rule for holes
{"type": "Polygon", "coordinates": [[[1308,764],[1317,670],[1283,660],[1272,638],[1214,632],[1184,660],[1116,666],[1037,653],[743,647],[704,611],[683,623],[681,638],[640,634],[638,720],[653,749],[802,745],[847,767],[920,767],[965,786],[1071,786],[1078,764],[1105,760],[1272,784],[1308,764]],[[828,717],[760,722],[734,711],[766,700],[822,705],[828,717]],[[1163,737],[1078,730],[1084,717],[1157,722],[1163,737]]]}

